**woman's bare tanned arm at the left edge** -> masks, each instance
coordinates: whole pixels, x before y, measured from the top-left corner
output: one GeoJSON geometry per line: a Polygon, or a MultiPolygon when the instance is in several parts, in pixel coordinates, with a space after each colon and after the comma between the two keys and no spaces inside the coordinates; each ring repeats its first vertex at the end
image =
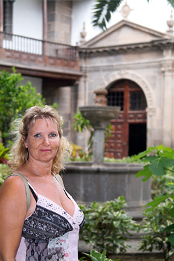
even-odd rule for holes
{"type": "Polygon", "coordinates": [[[20,177],[11,176],[0,189],[0,261],[15,261],[26,217],[26,193],[20,177]]]}

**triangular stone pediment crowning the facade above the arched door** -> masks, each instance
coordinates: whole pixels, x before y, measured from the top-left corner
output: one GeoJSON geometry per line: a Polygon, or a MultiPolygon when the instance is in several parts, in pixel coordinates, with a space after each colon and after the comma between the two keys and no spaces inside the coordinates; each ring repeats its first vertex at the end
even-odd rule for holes
{"type": "Polygon", "coordinates": [[[81,47],[109,47],[116,45],[132,45],[141,42],[172,38],[168,33],[161,33],[148,27],[123,19],[106,31],[85,42],[81,47]]]}

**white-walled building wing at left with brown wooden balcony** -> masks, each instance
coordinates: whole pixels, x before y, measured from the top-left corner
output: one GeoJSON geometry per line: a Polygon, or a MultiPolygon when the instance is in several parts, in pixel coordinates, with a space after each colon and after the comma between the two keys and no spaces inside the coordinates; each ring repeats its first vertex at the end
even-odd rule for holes
{"type": "Polygon", "coordinates": [[[70,140],[82,75],[78,47],[71,45],[72,7],[73,1],[0,0],[0,70],[15,66],[47,104],[57,102],[70,140]]]}

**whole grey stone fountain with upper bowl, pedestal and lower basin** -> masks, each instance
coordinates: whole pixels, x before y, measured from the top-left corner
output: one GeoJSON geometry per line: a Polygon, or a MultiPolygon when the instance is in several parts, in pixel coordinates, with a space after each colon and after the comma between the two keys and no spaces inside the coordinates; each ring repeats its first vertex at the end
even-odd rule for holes
{"type": "Polygon", "coordinates": [[[105,89],[95,90],[95,105],[80,107],[94,129],[93,162],[72,161],[62,174],[65,188],[78,203],[90,205],[125,196],[127,212],[141,219],[142,206],[150,201],[151,182],[143,183],[136,173],[142,164],[104,163],[104,129],[118,116],[117,106],[106,106],[105,89]]]}

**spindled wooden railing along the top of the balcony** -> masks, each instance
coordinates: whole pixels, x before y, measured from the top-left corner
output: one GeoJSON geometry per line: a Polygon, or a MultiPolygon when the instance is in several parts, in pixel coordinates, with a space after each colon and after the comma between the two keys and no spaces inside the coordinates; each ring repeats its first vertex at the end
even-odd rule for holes
{"type": "Polygon", "coordinates": [[[0,32],[0,48],[39,56],[78,59],[77,47],[5,32],[0,32]]]}

